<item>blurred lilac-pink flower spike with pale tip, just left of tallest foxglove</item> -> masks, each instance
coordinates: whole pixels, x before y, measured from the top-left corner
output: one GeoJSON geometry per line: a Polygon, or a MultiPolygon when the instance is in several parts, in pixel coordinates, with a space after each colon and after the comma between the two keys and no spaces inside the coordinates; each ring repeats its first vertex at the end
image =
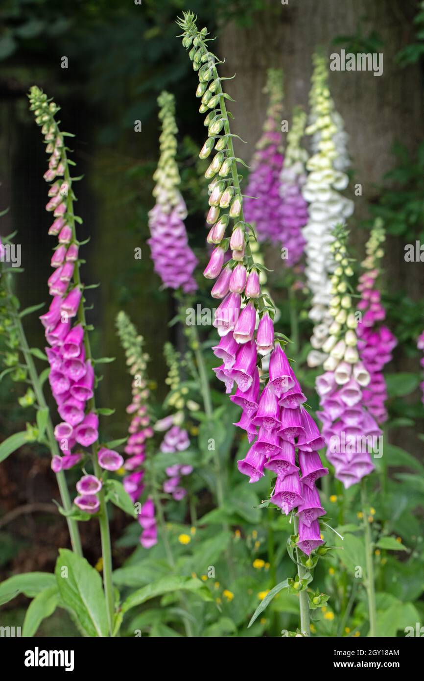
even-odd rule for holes
{"type": "Polygon", "coordinates": [[[161,277],[163,285],[172,289],[181,287],[185,293],[192,293],[197,289],[193,279],[197,259],[189,247],[184,226],[187,210],[178,191],[180,174],[176,163],[178,128],[175,122],[174,96],[162,92],[157,102],[161,108],[161,155],[153,175],[156,182],[153,190],[156,204],[149,212],[151,237],[148,244],[154,271],[161,277]]]}

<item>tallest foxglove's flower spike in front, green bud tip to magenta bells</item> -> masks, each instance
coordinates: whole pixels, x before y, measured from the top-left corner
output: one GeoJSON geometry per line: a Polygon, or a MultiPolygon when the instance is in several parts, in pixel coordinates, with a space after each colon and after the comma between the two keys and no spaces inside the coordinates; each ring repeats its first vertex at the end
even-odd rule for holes
{"type": "Polygon", "coordinates": [[[225,106],[229,96],[223,92],[224,79],[218,76],[219,62],[208,50],[207,29],[197,31],[193,14],[185,13],[178,25],[184,31],[183,46],[190,50],[193,69],[199,76],[199,111],[208,112],[208,139],[200,155],[206,158],[212,149],[216,151],[206,170],[206,178],[212,180],[208,242],[215,244],[215,249],[203,274],[216,280],[212,296],[222,300],[213,322],[221,338],[214,354],[222,364],[214,371],[225,383],[227,393],[235,388],[231,401],[242,408],[236,425],[246,430],[251,443],[238,468],[250,482],[263,477],[264,469],[276,473],[271,501],[287,515],[297,509],[297,546],[310,554],[323,543],[318,518],[325,511],[315,482],[328,473],[318,454],[324,440],[303,406],[306,397],[284,353],[282,334],[274,333],[274,306],[261,289],[258,266],[253,262],[250,242],[254,236],[244,219],[237,168],[240,159],[233,151],[225,106]],[[223,268],[228,248],[231,259],[223,268]],[[268,380],[261,377],[261,360],[267,355],[268,380]]]}

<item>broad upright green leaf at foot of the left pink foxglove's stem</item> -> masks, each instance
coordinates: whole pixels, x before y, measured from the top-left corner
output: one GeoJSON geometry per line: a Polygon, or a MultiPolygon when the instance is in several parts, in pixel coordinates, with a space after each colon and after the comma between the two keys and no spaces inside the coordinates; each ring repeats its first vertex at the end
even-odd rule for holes
{"type": "Polygon", "coordinates": [[[85,558],[59,549],[56,583],[61,599],[89,637],[108,636],[108,617],[101,577],[85,558]]]}

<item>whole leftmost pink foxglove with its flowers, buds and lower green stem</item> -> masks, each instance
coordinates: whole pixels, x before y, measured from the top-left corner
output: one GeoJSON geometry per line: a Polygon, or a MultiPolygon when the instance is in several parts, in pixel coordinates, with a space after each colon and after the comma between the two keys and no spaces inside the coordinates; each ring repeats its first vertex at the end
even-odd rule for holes
{"type": "MultiPolygon", "coordinates": [[[[95,375],[91,345],[84,309],[84,285],[80,278],[80,243],[75,223],[82,222],[74,215],[74,190],[70,168],[74,161],[67,158],[65,138],[69,133],[59,129],[55,115],[59,106],[48,100],[37,86],[29,93],[30,108],[35,123],[42,128],[48,170],[44,174],[50,183],[46,210],[54,220],[49,229],[57,236],[48,286],[52,302],[48,313],[40,317],[46,332],[46,354],[50,363],[49,382],[62,421],[54,428],[61,456],[54,456],[52,469],[63,470],[65,461],[80,462],[84,449],[91,447],[94,475],[84,475],[77,485],[78,496],[74,503],[87,513],[97,513],[101,532],[103,557],[103,583],[108,607],[110,633],[114,626],[114,592],[112,586],[112,557],[108,513],[106,509],[103,478],[110,465],[105,465],[99,445],[99,417],[95,406],[95,375]],[[77,450],[75,451],[75,448],[77,450]],[[66,457],[66,458],[65,458],[66,457]],[[102,470],[103,469],[103,470],[102,470]]],[[[113,452],[112,454],[117,454],[113,452]]],[[[119,456],[119,455],[118,455],[119,456]]],[[[67,466],[68,467],[68,466],[67,466]]]]}

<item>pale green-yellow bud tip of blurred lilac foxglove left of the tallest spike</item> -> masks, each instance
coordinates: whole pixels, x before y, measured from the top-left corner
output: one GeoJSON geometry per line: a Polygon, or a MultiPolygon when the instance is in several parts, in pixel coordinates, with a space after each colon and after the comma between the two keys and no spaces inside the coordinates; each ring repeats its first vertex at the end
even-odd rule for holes
{"type": "Polygon", "coordinates": [[[168,92],[161,92],[157,99],[160,107],[159,120],[162,132],[159,137],[160,157],[153,179],[156,183],[153,196],[163,206],[180,206],[182,199],[178,187],[180,173],[176,162],[178,127],[175,122],[175,99],[168,92]]]}

